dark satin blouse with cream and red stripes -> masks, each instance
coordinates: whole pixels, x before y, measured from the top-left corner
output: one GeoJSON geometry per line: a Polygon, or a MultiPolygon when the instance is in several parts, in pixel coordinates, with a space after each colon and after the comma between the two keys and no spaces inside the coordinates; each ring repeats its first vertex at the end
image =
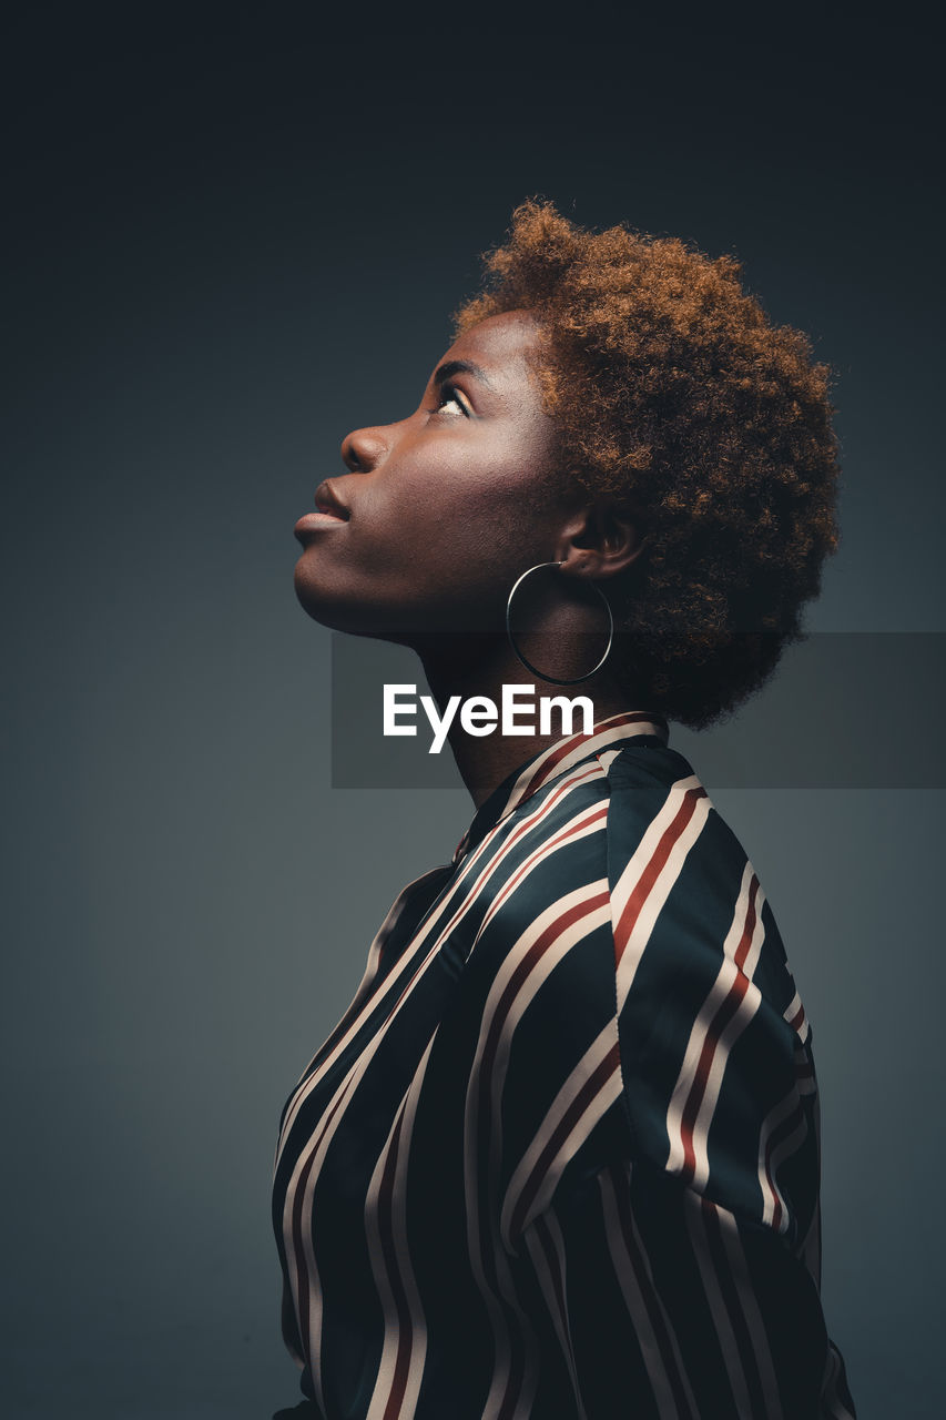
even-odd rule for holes
{"type": "Polygon", "coordinates": [[[293,1414],[854,1416],[811,1031],[665,720],[534,755],[403,889],[286,1105],[273,1220],[293,1414]]]}

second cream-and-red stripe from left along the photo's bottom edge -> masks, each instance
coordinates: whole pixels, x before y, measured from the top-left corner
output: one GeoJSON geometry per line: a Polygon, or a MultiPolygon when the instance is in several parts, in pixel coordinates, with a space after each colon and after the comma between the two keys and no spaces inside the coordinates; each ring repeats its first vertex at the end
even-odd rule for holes
{"type": "Polygon", "coordinates": [[[366,1420],[381,1420],[385,1413],[395,1382],[395,1365],[401,1343],[401,1319],[398,1316],[395,1294],[385,1264],[385,1254],[381,1242],[381,1225],[378,1221],[381,1184],[388,1167],[391,1150],[393,1149],[393,1139],[399,1119],[403,1122],[398,1140],[391,1211],[393,1224],[393,1247],[398,1258],[398,1275],[403,1284],[403,1291],[408,1298],[408,1309],[411,1314],[411,1359],[408,1363],[405,1393],[401,1402],[401,1409],[398,1410],[399,1420],[409,1420],[409,1417],[413,1416],[418,1406],[418,1397],[420,1394],[420,1382],[423,1379],[423,1363],[428,1353],[428,1328],[408,1247],[406,1187],[413,1122],[416,1119],[418,1100],[423,1088],[423,1078],[428,1071],[428,1062],[430,1059],[430,1051],[433,1049],[435,1039],[436,1031],[430,1037],[428,1048],[420,1056],[420,1064],[418,1065],[415,1076],[411,1081],[411,1086],[395,1115],[385,1147],[381,1150],[375,1172],[371,1176],[371,1186],[368,1189],[368,1197],[365,1198],[365,1231],[369,1244],[368,1255],[371,1258],[371,1269],[375,1275],[375,1282],[378,1284],[378,1295],[381,1296],[385,1318],[385,1339],[381,1350],[381,1363],[378,1367],[378,1377],[375,1380],[371,1404],[368,1406],[366,1420]]]}

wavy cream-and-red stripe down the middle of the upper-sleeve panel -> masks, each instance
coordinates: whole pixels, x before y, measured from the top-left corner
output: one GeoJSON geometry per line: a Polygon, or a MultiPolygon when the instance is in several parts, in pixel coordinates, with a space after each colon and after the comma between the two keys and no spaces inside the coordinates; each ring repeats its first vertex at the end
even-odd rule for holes
{"type": "Polygon", "coordinates": [[[670,1147],[668,1153],[666,1167],[670,1173],[680,1173],[685,1167],[685,1142],[683,1142],[683,1115],[686,1106],[690,1100],[693,1091],[697,1088],[697,1066],[700,1062],[700,1055],[703,1047],[707,1041],[710,1027],[716,1018],[717,1011],[723,1003],[729,998],[736,981],[740,977],[749,978],[749,987],[741,1001],[739,1003],[736,1011],[726,1022],[726,1028],[716,1041],[713,1049],[713,1056],[710,1061],[709,1076],[706,1079],[706,1086],[700,1099],[700,1106],[693,1120],[693,1187],[697,1191],[706,1186],[709,1179],[709,1126],[713,1119],[713,1112],[716,1109],[716,1102],[719,1100],[719,1093],[723,1085],[723,1075],[726,1074],[726,1065],[729,1062],[729,1052],[733,1042],[739,1039],[743,1034],[753,1015],[761,1004],[761,991],[753,983],[751,977],[759,963],[759,953],[761,951],[763,939],[766,936],[766,929],[761,920],[761,905],[763,905],[763,890],[757,888],[754,912],[756,920],[753,923],[753,934],[749,944],[749,951],[746,954],[746,961],[741,970],[736,966],[736,953],[743,940],[746,930],[746,922],[751,903],[753,885],[757,885],[757,878],[753,870],[751,863],[746,863],[743,870],[743,880],[739,890],[739,899],[736,902],[736,910],[733,913],[733,920],[730,929],[726,934],[723,943],[723,960],[720,961],[716,981],[709,990],[703,1005],[700,1007],[699,1015],[696,1017],[693,1027],[690,1030],[690,1038],[683,1055],[683,1064],[680,1066],[680,1074],[678,1076],[676,1085],[673,1088],[673,1095],[670,1096],[670,1105],[666,1116],[666,1129],[670,1140],[670,1147]]]}

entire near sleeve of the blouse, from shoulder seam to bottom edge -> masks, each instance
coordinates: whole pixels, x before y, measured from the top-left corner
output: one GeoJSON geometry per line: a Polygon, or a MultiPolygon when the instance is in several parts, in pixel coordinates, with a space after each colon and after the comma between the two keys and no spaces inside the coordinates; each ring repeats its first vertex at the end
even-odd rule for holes
{"type": "Polygon", "coordinates": [[[702,785],[682,777],[653,811],[638,778],[608,819],[612,1129],[575,1139],[513,1235],[540,1375],[570,1397],[543,1403],[584,1420],[851,1420],[818,1292],[810,1030],[778,930],[702,785]]]}

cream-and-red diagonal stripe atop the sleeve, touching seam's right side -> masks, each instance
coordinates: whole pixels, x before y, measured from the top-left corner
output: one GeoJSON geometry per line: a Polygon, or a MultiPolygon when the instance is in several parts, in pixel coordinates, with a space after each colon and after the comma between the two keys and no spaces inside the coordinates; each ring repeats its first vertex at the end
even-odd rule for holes
{"type": "MultiPolygon", "coordinates": [[[[683,780],[678,780],[670,787],[660,812],[648,825],[643,838],[635,848],[626,868],[615,883],[614,892],[611,893],[611,917],[615,927],[615,940],[618,924],[628,902],[649,869],[660,839],[680,811],[687,790],[692,788],[702,788],[695,774],[690,774],[683,780]]],[[[631,936],[624,947],[624,954],[618,964],[618,1014],[621,1014],[625,1001],[628,1000],[638,964],[643,956],[648,941],[651,940],[653,926],[663,910],[663,905],[670,895],[673,883],[683,870],[686,855],[700,836],[703,825],[709,818],[710,808],[712,804],[709,798],[703,797],[696,801],[686,828],[673,845],[666,863],[658,873],[658,878],[652,883],[648,897],[638,913],[638,919],[634,923],[631,936]]]]}

